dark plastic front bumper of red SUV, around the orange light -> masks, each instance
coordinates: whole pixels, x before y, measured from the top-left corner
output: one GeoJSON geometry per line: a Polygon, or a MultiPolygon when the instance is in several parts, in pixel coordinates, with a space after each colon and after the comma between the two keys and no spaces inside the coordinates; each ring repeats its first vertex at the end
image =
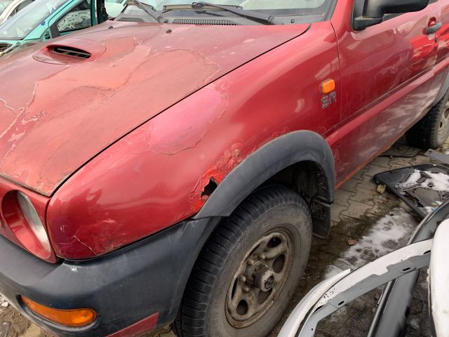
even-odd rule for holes
{"type": "Polygon", "coordinates": [[[145,319],[152,327],[166,326],[175,319],[194,262],[218,220],[185,221],[105,256],[55,265],[0,237],[0,293],[58,336],[109,336],[133,324],[139,328],[145,319]],[[83,328],[52,324],[22,305],[20,295],[57,309],[91,308],[98,318],[83,328]]]}

